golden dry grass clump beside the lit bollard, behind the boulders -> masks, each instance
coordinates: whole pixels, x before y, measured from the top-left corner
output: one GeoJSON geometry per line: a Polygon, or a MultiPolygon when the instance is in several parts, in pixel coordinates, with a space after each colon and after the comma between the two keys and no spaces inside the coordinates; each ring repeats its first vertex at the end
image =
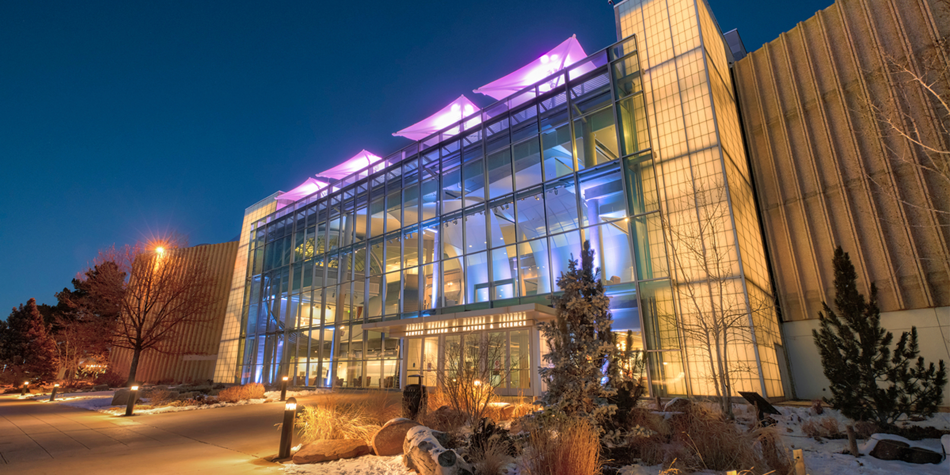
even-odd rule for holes
{"type": "Polygon", "coordinates": [[[361,439],[371,444],[383,424],[399,417],[399,394],[386,390],[332,392],[304,406],[297,427],[304,443],[318,439],[361,439]]]}

